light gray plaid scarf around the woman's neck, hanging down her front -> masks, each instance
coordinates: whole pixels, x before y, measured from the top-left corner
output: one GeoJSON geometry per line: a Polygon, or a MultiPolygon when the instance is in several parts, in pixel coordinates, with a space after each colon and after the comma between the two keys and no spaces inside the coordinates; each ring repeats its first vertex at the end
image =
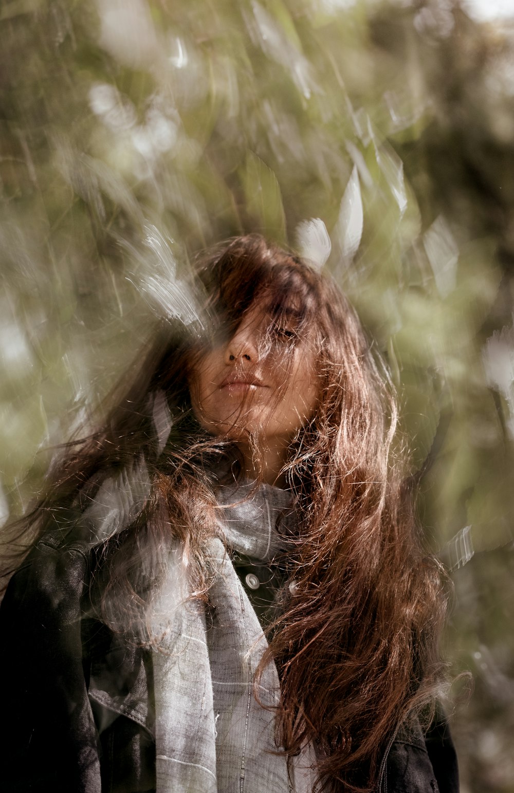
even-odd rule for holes
{"type": "MultiPolygon", "coordinates": [[[[232,550],[267,561],[283,550],[275,524],[290,506],[286,492],[240,485],[221,489],[219,500],[230,504],[221,528],[232,550]]],[[[180,550],[173,553],[176,572],[180,550]]],[[[174,577],[159,607],[168,619],[154,657],[157,793],[310,793],[313,748],[295,758],[290,779],[276,753],[274,711],[263,707],[278,703],[274,664],[261,680],[263,705],[253,694],[267,642],[221,538],[209,542],[208,557],[209,606],[186,600],[186,584],[174,577]]]]}

